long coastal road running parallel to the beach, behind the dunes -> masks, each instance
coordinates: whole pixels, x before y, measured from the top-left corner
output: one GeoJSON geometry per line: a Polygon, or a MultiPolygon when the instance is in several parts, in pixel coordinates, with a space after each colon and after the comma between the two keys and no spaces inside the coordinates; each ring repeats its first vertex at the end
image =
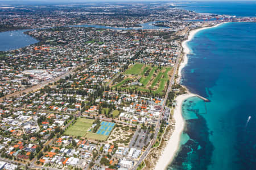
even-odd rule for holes
{"type": "Polygon", "coordinates": [[[151,147],[155,143],[155,140],[156,140],[156,138],[158,136],[158,132],[160,130],[160,120],[163,118],[164,107],[166,106],[166,101],[167,101],[167,98],[168,98],[168,94],[172,90],[172,84],[174,84],[175,74],[176,74],[177,68],[179,66],[179,60],[180,60],[180,56],[181,56],[181,51],[182,51],[182,48],[180,48],[179,55],[177,57],[176,64],[175,64],[175,67],[174,67],[174,72],[172,73],[172,77],[170,79],[170,82],[169,82],[169,85],[168,85],[168,88],[167,88],[167,91],[166,91],[166,96],[164,97],[164,102],[162,104],[162,109],[160,111],[158,123],[157,123],[156,128],[155,128],[154,138],[153,138],[153,140],[151,140],[150,144],[148,145],[146,151],[143,153],[141,158],[137,161],[137,163],[135,163],[134,167],[132,168],[133,170],[136,170],[138,168],[138,166],[142,163],[142,161],[150,153],[151,147]]]}

